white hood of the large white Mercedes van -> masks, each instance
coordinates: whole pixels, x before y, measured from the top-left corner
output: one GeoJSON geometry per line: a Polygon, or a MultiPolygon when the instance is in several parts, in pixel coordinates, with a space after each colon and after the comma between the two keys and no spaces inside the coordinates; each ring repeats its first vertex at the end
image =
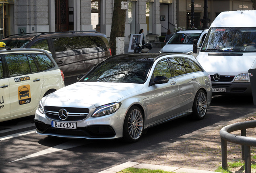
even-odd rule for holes
{"type": "Polygon", "coordinates": [[[213,75],[232,75],[248,72],[255,61],[254,53],[246,53],[243,56],[209,56],[208,52],[200,52],[196,59],[204,70],[213,75]]]}

